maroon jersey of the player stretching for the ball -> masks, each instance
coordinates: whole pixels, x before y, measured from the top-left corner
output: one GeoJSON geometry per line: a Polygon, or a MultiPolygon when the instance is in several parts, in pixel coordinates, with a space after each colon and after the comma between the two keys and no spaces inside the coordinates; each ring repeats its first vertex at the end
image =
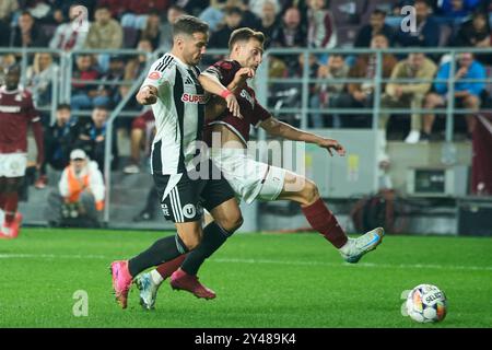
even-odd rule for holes
{"type": "MultiPolygon", "coordinates": [[[[239,69],[239,62],[222,60],[209,67],[206,72],[215,75],[224,86],[227,86],[234,80],[234,75],[239,69]]],[[[236,93],[236,97],[243,119],[234,117],[229,109],[225,109],[222,115],[209,122],[208,126],[224,124],[246,144],[249,140],[250,126],[253,125],[257,128],[261,121],[270,118],[271,114],[258,103],[255,91],[247,83],[239,94],[236,93]]]]}

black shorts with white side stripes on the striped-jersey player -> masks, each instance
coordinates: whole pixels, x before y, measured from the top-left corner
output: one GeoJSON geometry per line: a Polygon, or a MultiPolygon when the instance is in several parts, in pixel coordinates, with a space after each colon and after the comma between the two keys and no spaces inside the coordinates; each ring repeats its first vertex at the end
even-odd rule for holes
{"type": "MultiPolygon", "coordinates": [[[[212,162],[209,163],[210,168],[214,166],[212,162]]],[[[218,172],[215,174],[220,173],[216,167],[214,171],[218,172]]],[[[187,173],[178,175],[154,174],[153,177],[164,217],[175,223],[200,220],[203,215],[203,208],[211,211],[231,198],[235,198],[234,190],[222,174],[218,179],[195,179],[190,178],[187,173]],[[176,185],[169,184],[175,182],[179,175],[180,178],[176,185]],[[172,187],[167,189],[164,198],[167,185],[172,187]]]]}

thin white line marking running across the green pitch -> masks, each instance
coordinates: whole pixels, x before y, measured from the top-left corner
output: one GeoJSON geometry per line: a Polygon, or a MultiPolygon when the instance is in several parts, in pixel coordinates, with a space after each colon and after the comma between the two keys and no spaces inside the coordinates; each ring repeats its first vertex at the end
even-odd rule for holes
{"type": "MultiPolygon", "coordinates": [[[[55,254],[0,254],[0,259],[101,259],[112,260],[114,257],[105,255],[55,255],[55,254]]],[[[329,267],[366,267],[366,268],[398,268],[398,269],[438,269],[438,270],[471,270],[471,271],[492,271],[490,266],[465,266],[465,265],[435,265],[435,264],[376,264],[376,262],[326,262],[326,261],[300,261],[300,260],[270,260],[270,259],[227,259],[212,258],[212,262],[236,262],[236,264],[277,264],[277,265],[298,265],[298,266],[329,266],[329,267]]]]}

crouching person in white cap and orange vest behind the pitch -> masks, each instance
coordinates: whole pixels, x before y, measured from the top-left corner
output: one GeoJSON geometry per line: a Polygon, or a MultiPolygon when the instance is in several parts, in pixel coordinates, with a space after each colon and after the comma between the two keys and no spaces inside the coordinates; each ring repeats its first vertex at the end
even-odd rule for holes
{"type": "Polygon", "coordinates": [[[70,153],[70,164],[61,173],[58,190],[48,198],[46,217],[51,225],[69,218],[83,218],[85,224],[98,225],[97,212],[104,209],[105,197],[103,174],[83,150],[70,153]]]}

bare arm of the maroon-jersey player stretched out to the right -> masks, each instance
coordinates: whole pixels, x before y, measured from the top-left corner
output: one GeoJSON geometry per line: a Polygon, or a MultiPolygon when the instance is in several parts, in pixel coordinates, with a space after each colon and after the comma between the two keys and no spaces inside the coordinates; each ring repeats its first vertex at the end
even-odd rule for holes
{"type": "Polygon", "coordinates": [[[282,137],[284,139],[293,141],[314,143],[319,145],[320,148],[326,149],[330,153],[330,155],[333,155],[333,150],[339,155],[345,155],[345,149],[337,140],[324,138],[313,132],[300,130],[290,126],[289,124],[278,120],[277,118],[270,117],[267,120],[263,120],[260,126],[271,136],[282,137]]]}

